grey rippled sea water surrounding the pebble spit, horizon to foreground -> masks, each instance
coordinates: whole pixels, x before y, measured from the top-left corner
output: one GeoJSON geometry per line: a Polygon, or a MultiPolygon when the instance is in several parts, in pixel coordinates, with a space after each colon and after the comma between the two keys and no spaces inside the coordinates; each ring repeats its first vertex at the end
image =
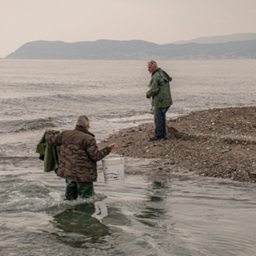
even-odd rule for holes
{"type": "MultiPolygon", "coordinates": [[[[256,106],[256,60],[158,63],[173,77],[169,118],[256,106]]],[[[255,184],[148,175],[152,160],[127,158],[122,186],[98,162],[96,195],[66,202],[64,179],[43,172],[46,128],[86,114],[100,142],[152,122],[149,80],[146,61],[0,59],[0,255],[256,255],[255,184]]]]}

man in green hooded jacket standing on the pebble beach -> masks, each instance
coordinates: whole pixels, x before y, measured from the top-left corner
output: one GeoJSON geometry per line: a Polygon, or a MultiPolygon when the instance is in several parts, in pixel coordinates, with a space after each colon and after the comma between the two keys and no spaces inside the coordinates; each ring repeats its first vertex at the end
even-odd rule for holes
{"type": "Polygon", "coordinates": [[[158,63],[155,61],[148,62],[148,70],[151,74],[151,87],[146,93],[146,98],[153,98],[155,124],[154,137],[150,138],[150,141],[156,141],[167,138],[166,112],[173,104],[169,84],[172,79],[164,70],[158,68],[158,63]]]}

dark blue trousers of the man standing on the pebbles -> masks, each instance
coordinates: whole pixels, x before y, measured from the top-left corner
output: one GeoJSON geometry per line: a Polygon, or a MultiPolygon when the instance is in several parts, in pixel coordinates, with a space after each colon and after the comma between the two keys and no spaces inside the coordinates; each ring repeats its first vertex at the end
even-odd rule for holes
{"type": "Polygon", "coordinates": [[[166,112],[170,106],[154,108],[154,137],[163,138],[166,136],[166,112]]]}

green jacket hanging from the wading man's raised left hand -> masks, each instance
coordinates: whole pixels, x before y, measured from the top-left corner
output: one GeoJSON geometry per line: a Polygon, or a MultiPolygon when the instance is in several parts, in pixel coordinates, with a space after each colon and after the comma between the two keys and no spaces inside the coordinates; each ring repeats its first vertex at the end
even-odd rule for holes
{"type": "MultiPolygon", "coordinates": [[[[58,130],[52,130],[54,135],[59,134],[58,130]]],[[[61,152],[61,146],[50,146],[46,142],[45,134],[43,134],[40,142],[38,142],[36,153],[39,154],[39,159],[44,161],[44,171],[48,172],[58,170],[58,159],[61,152]]]]}

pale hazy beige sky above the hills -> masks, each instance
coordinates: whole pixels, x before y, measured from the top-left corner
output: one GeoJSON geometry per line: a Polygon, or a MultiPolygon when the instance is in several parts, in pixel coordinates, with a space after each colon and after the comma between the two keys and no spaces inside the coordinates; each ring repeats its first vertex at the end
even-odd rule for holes
{"type": "Polygon", "coordinates": [[[0,0],[0,58],[26,42],[158,44],[256,33],[256,0],[0,0]]]}

